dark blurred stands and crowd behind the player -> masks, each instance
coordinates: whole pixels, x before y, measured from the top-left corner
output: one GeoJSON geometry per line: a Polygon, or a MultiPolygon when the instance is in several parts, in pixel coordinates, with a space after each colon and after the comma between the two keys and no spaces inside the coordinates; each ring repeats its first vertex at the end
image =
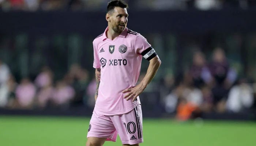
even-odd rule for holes
{"type": "MultiPolygon", "coordinates": [[[[256,120],[255,0],[126,2],[128,28],[162,61],[140,96],[144,117],[256,120]]],[[[1,115],[91,116],[107,3],[0,0],[1,115]]]]}

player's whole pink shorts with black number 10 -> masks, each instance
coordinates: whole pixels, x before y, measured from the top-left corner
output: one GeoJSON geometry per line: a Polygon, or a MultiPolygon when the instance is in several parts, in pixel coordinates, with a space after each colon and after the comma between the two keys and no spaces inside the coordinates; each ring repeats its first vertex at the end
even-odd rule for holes
{"type": "Polygon", "coordinates": [[[134,145],[143,142],[140,104],[122,115],[104,116],[93,111],[87,138],[106,138],[106,141],[116,142],[117,134],[123,144],[134,145]]]}

